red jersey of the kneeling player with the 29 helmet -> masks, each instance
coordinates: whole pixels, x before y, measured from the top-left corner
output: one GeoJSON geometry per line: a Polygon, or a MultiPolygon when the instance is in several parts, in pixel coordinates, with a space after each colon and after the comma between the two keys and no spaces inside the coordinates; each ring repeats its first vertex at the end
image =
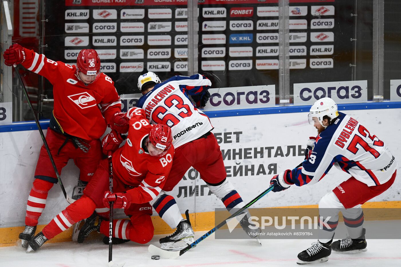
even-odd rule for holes
{"type": "Polygon", "coordinates": [[[150,156],[144,149],[144,140],[153,125],[146,119],[145,111],[132,107],[127,112],[130,129],[124,146],[113,152],[113,176],[133,187],[127,191],[132,203],[146,203],[160,193],[172,166],[174,147],[162,157],[150,156]]]}

